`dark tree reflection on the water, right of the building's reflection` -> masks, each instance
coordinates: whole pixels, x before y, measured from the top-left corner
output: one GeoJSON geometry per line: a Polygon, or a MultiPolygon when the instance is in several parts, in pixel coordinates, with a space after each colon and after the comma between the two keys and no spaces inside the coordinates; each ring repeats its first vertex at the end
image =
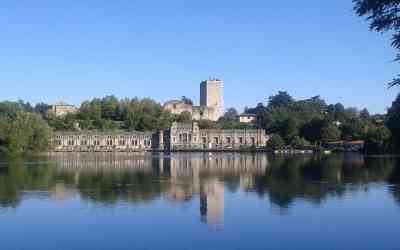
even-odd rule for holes
{"type": "Polygon", "coordinates": [[[256,181],[260,195],[272,204],[289,209],[295,199],[321,204],[330,197],[365,190],[369,183],[385,182],[393,160],[362,155],[274,157],[265,176],[256,181]]]}

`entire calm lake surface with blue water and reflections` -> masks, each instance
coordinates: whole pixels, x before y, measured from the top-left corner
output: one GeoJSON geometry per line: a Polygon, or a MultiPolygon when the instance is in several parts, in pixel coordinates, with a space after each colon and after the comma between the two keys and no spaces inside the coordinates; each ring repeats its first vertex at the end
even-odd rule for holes
{"type": "Polygon", "coordinates": [[[361,155],[0,160],[0,249],[400,249],[400,162],[361,155]]]}

